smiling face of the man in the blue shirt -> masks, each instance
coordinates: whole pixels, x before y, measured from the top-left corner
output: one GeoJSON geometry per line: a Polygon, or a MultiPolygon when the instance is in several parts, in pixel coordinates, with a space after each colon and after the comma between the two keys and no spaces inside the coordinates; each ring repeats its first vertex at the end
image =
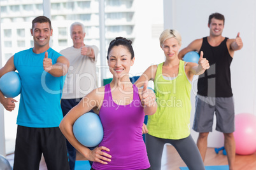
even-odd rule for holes
{"type": "Polygon", "coordinates": [[[34,46],[38,48],[49,47],[50,37],[52,36],[52,29],[48,22],[34,23],[33,29],[31,29],[31,35],[34,39],[34,46]]]}

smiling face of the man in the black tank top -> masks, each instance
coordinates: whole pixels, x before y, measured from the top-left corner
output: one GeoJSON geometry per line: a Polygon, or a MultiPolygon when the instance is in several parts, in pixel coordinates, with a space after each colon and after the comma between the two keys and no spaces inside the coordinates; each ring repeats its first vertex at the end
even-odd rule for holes
{"type": "Polygon", "coordinates": [[[222,36],[224,21],[217,20],[216,18],[211,18],[211,23],[210,25],[208,24],[208,27],[210,28],[211,36],[222,36]]]}

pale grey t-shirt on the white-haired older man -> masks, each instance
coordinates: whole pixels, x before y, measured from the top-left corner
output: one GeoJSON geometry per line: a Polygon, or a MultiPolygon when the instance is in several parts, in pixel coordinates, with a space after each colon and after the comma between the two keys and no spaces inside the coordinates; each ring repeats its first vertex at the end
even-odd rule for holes
{"type": "Polygon", "coordinates": [[[97,46],[86,47],[94,49],[94,59],[81,55],[81,48],[73,46],[60,51],[70,63],[62,91],[63,99],[83,98],[97,88],[96,62],[99,49],[97,46]]]}

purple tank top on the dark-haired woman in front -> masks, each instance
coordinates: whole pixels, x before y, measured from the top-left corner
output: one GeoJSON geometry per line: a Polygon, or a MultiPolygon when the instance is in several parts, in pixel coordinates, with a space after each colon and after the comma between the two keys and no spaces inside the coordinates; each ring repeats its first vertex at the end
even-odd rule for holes
{"type": "Polygon", "coordinates": [[[94,169],[141,170],[150,167],[142,137],[144,116],[138,88],[134,84],[133,100],[129,105],[115,103],[110,84],[106,84],[103,105],[99,111],[104,130],[103,141],[99,147],[109,148],[110,152],[107,153],[112,158],[106,165],[94,162],[94,169]]]}

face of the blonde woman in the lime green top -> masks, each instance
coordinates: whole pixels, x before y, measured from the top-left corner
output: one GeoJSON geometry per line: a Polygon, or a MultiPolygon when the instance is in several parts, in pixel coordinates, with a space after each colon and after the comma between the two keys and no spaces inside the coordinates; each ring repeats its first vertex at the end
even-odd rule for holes
{"type": "Polygon", "coordinates": [[[164,51],[164,55],[166,55],[167,60],[173,60],[175,58],[178,58],[180,44],[174,37],[166,39],[166,41],[164,41],[164,43],[162,44],[161,48],[164,51]]]}

